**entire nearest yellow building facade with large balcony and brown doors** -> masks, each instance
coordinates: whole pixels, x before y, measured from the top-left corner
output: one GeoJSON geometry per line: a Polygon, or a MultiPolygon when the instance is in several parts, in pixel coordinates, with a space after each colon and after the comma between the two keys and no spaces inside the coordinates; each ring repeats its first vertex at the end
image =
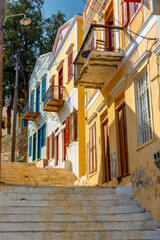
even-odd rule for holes
{"type": "Polygon", "coordinates": [[[132,183],[160,221],[159,10],[154,0],[88,1],[74,84],[85,89],[87,182],[132,183]]]}

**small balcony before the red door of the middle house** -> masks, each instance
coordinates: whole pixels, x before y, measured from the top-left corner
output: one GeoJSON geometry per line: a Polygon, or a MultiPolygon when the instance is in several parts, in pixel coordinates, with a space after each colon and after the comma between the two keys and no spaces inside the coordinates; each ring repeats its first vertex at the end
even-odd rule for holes
{"type": "Polygon", "coordinates": [[[44,95],[43,111],[59,112],[66,98],[66,89],[63,86],[50,86],[44,95]]]}

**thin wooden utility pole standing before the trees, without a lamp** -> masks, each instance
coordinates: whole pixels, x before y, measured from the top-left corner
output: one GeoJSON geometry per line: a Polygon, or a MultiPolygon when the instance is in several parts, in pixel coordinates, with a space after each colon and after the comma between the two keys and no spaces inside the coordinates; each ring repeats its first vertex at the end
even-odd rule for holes
{"type": "Polygon", "coordinates": [[[17,52],[17,57],[16,57],[16,79],[15,79],[15,89],[14,89],[14,113],[13,113],[13,127],[12,127],[11,162],[15,161],[17,98],[18,98],[18,67],[19,67],[19,51],[17,52]]]}

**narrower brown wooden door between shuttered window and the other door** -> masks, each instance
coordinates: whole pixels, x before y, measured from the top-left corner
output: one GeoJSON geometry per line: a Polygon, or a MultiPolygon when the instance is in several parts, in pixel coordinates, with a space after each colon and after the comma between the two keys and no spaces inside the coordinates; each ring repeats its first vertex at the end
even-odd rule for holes
{"type": "Polygon", "coordinates": [[[110,161],[110,151],[109,151],[109,128],[108,121],[103,124],[103,152],[104,152],[104,174],[105,182],[111,180],[111,161],[110,161]]]}

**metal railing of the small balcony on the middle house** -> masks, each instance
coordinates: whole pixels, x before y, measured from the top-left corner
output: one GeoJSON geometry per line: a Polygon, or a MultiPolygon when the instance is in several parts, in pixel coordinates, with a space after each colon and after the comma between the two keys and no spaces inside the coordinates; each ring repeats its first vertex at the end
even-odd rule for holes
{"type": "Polygon", "coordinates": [[[63,86],[50,86],[44,95],[44,106],[47,104],[49,99],[60,99],[65,100],[67,97],[66,88],[63,86]]]}

